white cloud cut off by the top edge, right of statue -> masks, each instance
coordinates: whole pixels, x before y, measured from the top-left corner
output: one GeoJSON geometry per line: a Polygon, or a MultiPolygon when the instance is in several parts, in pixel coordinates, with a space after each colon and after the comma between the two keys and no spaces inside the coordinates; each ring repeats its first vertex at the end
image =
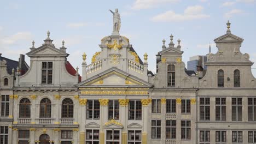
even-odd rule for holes
{"type": "Polygon", "coordinates": [[[132,9],[149,9],[167,3],[177,3],[180,0],[136,0],[132,9]]]}

